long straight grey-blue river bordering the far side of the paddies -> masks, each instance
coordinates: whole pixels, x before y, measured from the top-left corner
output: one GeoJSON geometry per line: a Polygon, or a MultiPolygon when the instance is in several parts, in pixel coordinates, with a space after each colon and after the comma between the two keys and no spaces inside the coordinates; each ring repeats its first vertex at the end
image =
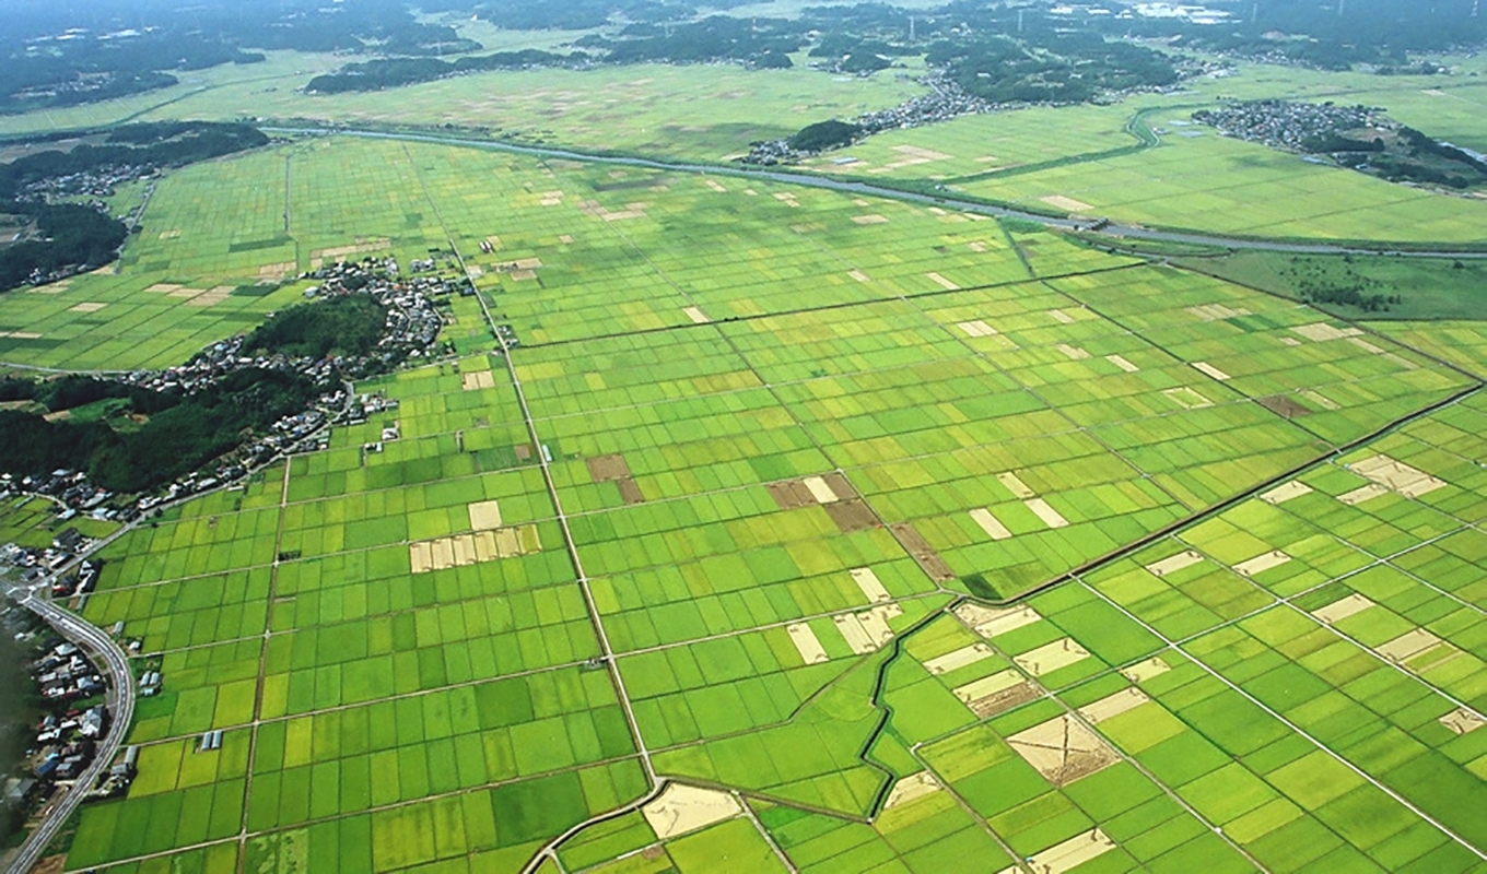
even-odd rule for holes
{"type": "MultiPolygon", "coordinates": [[[[272,128],[272,126],[266,126],[263,128],[263,131],[268,134],[342,135],[342,137],[361,137],[367,140],[434,143],[442,146],[462,146],[468,149],[486,149],[492,152],[531,155],[534,158],[558,158],[565,161],[581,161],[586,164],[613,164],[620,166],[638,166],[644,169],[660,169],[668,172],[691,172],[691,174],[706,174],[706,175],[732,175],[739,178],[769,180],[769,181],[806,186],[813,189],[828,189],[851,195],[865,195],[870,198],[885,198],[892,201],[904,201],[909,204],[943,207],[949,210],[958,210],[961,213],[992,216],[995,218],[1022,218],[1023,221],[1036,221],[1038,224],[1042,224],[1045,227],[1057,227],[1062,230],[1078,230],[1088,224],[1087,220],[1075,221],[1072,218],[1056,218],[1051,216],[1029,213],[1011,207],[998,207],[992,204],[983,204],[978,201],[965,201],[950,195],[949,192],[943,195],[926,195],[920,192],[909,192],[903,189],[892,189],[871,183],[848,181],[848,180],[831,178],[819,174],[799,172],[799,171],[791,172],[785,169],[760,169],[744,165],[730,166],[730,165],[681,164],[681,162],[671,164],[665,161],[653,161],[648,158],[628,158],[620,155],[589,155],[584,152],[572,152],[568,149],[549,149],[544,146],[517,146],[513,143],[495,143],[491,140],[464,140],[459,137],[440,137],[436,134],[400,134],[387,131],[361,131],[354,128],[332,129],[332,128],[272,128]]],[[[1487,251],[1466,250],[1466,248],[1402,250],[1390,245],[1367,247],[1367,245],[1346,245],[1346,244],[1328,244],[1328,242],[1289,242],[1279,239],[1249,239],[1240,236],[1224,236],[1218,233],[1199,233],[1187,230],[1161,230],[1152,227],[1138,227],[1133,224],[1114,224],[1114,223],[1102,227],[1097,232],[1086,230],[1086,233],[1099,238],[1109,238],[1111,241],[1142,239],[1149,242],[1178,242],[1185,245],[1204,245],[1204,247],[1233,248],[1233,250],[1285,251],[1294,254],[1378,254],[1378,256],[1425,257],[1425,259],[1487,260],[1487,251]]]]}

